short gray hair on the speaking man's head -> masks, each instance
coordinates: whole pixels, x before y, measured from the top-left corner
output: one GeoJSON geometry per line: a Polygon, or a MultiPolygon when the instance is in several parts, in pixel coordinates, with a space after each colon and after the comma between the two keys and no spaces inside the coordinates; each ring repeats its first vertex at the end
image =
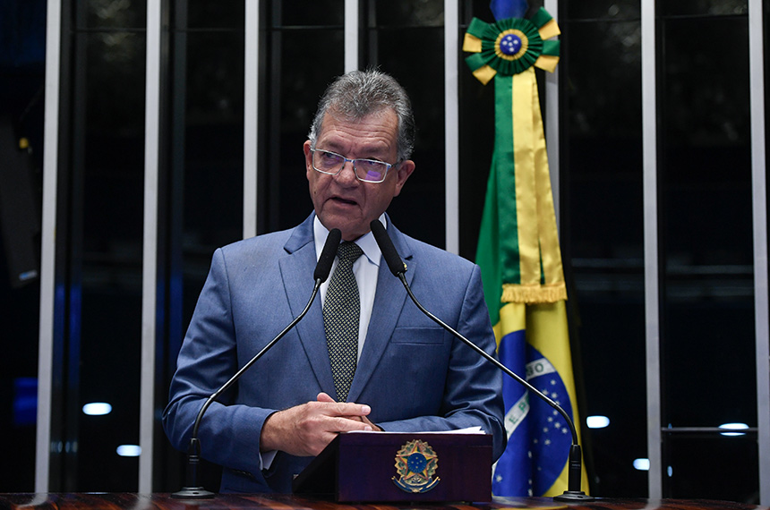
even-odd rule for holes
{"type": "Polygon", "coordinates": [[[392,76],[376,70],[352,71],[339,76],[321,96],[307,135],[311,147],[321,134],[323,117],[334,112],[347,120],[392,108],[398,116],[398,160],[409,159],[415,148],[415,116],[406,90],[392,76]]]}

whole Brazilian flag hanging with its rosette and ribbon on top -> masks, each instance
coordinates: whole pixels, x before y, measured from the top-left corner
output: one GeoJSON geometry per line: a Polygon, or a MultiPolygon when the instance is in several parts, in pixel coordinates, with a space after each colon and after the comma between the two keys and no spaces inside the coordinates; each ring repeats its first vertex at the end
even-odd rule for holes
{"type": "MultiPolygon", "coordinates": [[[[553,71],[560,31],[540,9],[531,19],[474,19],[463,49],[484,84],[494,79],[495,140],[476,263],[500,361],[578,423],[565,301],[535,67],[553,71]]],[[[503,382],[508,447],[494,465],[496,496],[555,496],[567,489],[572,435],[550,405],[503,382]]],[[[586,491],[586,476],[582,476],[586,491]]]]}

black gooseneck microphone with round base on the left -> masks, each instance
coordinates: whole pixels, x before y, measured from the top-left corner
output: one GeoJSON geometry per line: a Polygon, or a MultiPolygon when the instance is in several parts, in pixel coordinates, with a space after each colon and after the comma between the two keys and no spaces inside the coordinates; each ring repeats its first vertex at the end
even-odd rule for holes
{"type": "Polygon", "coordinates": [[[241,368],[241,370],[235,372],[233,377],[229,378],[229,380],[227,380],[227,382],[223,384],[222,387],[212,393],[201,407],[201,411],[198,412],[198,416],[195,418],[195,422],[193,424],[193,433],[190,436],[190,445],[187,447],[186,485],[181,490],[171,494],[171,497],[184,499],[203,499],[214,497],[213,492],[203,489],[198,485],[198,464],[201,462],[201,441],[198,439],[198,429],[201,426],[203,414],[207,409],[209,409],[209,406],[213,404],[215,400],[217,400],[219,395],[227,391],[229,387],[233,386],[235,381],[241,378],[246,370],[249,370],[257,360],[259,360],[265,353],[270,351],[270,348],[273,345],[278,343],[278,340],[287,334],[289,329],[295,327],[296,323],[304,318],[304,316],[307,314],[307,311],[310,310],[312,302],[315,301],[315,296],[318,294],[318,290],[321,288],[321,284],[325,282],[329,277],[331,264],[334,262],[334,257],[337,254],[338,245],[341,240],[342,233],[339,231],[339,229],[331,229],[331,232],[329,232],[329,235],[326,238],[326,242],[323,244],[321,257],[318,259],[318,263],[315,266],[315,271],[312,273],[312,277],[315,280],[315,285],[312,287],[310,300],[308,300],[307,304],[304,306],[304,310],[302,310],[296,319],[292,320],[289,325],[283,329],[283,331],[278,333],[278,336],[273,338],[270,341],[270,344],[262,347],[262,350],[257,353],[251,360],[249,360],[249,362],[247,362],[241,368]]]}

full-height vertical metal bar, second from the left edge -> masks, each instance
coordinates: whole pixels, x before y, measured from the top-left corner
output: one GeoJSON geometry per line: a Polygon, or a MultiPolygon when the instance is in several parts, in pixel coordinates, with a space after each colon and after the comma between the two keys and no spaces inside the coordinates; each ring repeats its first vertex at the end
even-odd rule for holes
{"type": "Polygon", "coordinates": [[[160,136],[161,0],[147,2],[144,103],[144,233],[141,253],[141,389],[139,492],[152,492],[155,426],[155,341],[158,278],[158,175],[160,136]]]}

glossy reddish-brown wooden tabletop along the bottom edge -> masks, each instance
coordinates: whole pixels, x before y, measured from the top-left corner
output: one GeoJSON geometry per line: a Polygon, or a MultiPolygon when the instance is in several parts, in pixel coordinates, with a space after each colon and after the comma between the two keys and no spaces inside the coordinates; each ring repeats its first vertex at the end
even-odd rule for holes
{"type": "Polygon", "coordinates": [[[560,504],[550,497],[492,497],[490,503],[412,502],[403,505],[338,504],[290,494],[218,494],[212,499],[174,499],[167,493],[0,494],[0,510],[760,510],[767,507],[705,499],[597,498],[560,504]]]}

